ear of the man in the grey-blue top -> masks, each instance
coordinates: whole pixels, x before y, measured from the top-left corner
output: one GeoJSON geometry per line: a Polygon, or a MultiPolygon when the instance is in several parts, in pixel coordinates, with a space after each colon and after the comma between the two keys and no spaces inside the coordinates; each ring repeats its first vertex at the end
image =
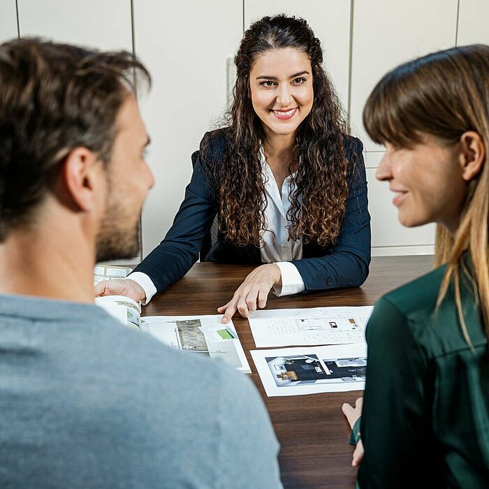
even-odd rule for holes
{"type": "Polygon", "coordinates": [[[62,180],[68,198],[75,207],[89,211],[100,202],[105,187],[105,170],[96,154],[86,147],[76,147],[64,159],[62,180]]]}

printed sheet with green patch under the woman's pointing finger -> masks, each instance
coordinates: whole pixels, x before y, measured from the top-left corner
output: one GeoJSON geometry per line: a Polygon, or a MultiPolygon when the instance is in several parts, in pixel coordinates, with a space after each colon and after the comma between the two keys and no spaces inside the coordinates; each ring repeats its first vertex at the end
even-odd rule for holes
{"type": "Polygon", "coordinates": [[[187,355],[209,356],[251,374],[233,321],[221,323],[222,314],[209,316],[144,316],[141,330],[187,355]]]}

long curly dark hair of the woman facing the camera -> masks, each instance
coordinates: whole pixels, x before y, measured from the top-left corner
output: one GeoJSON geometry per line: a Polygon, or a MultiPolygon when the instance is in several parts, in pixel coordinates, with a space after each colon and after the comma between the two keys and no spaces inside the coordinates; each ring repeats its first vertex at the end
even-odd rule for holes
{"type": "Polygon", "coordinates": [[[222,164],[209,165],[212,180],[218,182],[214,191],[220,202],[219,230],[226,240],[240,246],[258,246],[260,233],[265,231],[260,159],[264,133],[251,104],[249,73],[259,55],[282,48],[307,54],[314,89],[312,110],[298,127],[292,147],[291,169],[294,166],[297,172],[292,177],[295,191],[289,196],[289,237],[327,246],[337,240],[346,207],[346,123],[333,85],[321,66],[321,42],[304,19],[283,14],[251,24],[235,56],[237,80],[233,104],[225,117],[228,149],[222,164]]]}

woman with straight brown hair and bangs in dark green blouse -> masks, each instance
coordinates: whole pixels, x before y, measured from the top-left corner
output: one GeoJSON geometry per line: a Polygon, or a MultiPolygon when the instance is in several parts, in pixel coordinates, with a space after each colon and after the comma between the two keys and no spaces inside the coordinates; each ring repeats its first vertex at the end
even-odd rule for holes
{"type": "Polygon", "coordinates": [[[377,178],[400,222],[438,224],[438,268],[381,298],[368,323],[365,397],[343,406],[358,486],[488,488],[489,46],[395,68],[363,122],[386,146],[377,178]]]}

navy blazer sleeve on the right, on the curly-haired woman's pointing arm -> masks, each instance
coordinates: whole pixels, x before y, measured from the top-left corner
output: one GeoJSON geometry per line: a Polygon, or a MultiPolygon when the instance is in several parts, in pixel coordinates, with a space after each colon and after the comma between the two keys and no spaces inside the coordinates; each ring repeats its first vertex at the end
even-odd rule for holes
{"type": "Polygon", "coordinates": [[[358,287],[367,279],[370,265],[370,214],[362,151],[360,140],[348,137],[346,157],[351,168],[349,196],[336,244],[324,256],[292,261],[299,270],[306,291],[358,287]]]}

